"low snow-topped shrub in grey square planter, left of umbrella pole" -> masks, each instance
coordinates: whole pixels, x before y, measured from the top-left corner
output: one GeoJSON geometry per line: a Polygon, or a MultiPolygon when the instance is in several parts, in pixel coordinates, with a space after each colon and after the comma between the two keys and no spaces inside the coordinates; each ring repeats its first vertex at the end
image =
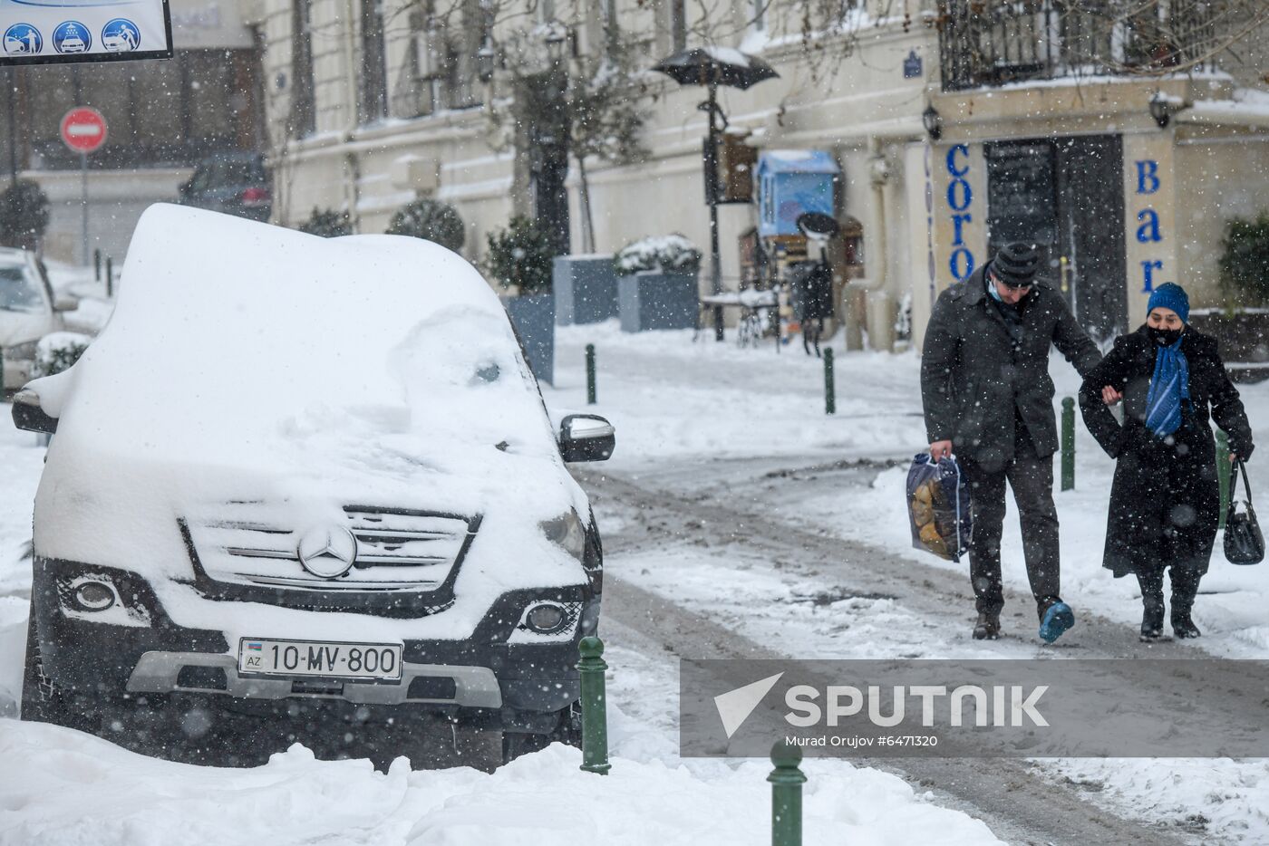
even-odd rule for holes
{"type": "Polygon", "coordinates": [[[643,238],[613,257],[622,331],[697,325],[700,250],[681,235],[643,238]]]}

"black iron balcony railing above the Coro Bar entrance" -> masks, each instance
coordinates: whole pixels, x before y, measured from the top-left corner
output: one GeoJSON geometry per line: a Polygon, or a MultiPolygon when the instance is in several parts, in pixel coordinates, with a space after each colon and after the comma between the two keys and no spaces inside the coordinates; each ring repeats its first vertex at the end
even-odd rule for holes
{"type": "Polygon", "coordinates": [[[939,0],[943,90],[1209,68],[1221,0],[939,0]]]}

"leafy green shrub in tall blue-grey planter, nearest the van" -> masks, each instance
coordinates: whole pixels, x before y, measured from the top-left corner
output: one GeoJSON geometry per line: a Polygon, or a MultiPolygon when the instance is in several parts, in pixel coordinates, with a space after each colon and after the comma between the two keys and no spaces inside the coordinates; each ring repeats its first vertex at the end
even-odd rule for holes
{"type": "Polygon", "coordinates": [[[516,216],[504,230],[489,233],[485,270],[508,289],[503,297],[511,325],[539,381],[555,384],[555,297],[551,236],[532,219],[516,216]]]}

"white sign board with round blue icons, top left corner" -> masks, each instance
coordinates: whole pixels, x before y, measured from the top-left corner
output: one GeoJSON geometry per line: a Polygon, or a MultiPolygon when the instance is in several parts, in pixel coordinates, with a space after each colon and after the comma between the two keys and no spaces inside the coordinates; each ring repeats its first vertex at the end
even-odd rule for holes
{"type": "Polygon", "coordinates": [[[0,65],[171,58],[168,0],[0,0],[0,65]]]}

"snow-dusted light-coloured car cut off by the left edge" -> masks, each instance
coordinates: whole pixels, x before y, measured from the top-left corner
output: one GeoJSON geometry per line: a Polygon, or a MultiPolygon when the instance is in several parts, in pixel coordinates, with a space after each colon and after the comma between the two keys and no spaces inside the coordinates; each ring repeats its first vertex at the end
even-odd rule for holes
{"type": "Polygon", "coordinates": [[[57,296],[34,252],[0,247],[0,351],[4,387],[13,391],[30,378],[39,339],[65,329],[62,312],[79,301],[57,296]]]}

